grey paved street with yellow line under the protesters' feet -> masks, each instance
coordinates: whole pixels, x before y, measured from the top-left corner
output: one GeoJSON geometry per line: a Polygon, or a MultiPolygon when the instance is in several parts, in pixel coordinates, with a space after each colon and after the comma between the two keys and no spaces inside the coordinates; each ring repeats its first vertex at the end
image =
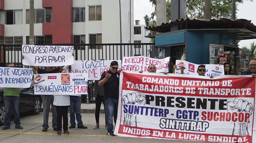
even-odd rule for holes
{"type": "Polygon", "coordinates": [[[52,129],[51,123],[49,130],[42,132],[42,117],[42,112],[39,115],[22,114],[21,125],[24,127],[22,130],[14,128],[13,120],[11,129],[2,130],[3,126],[0,126],[0,143],[196,143],[196,141],[110,137],[106,135],[106,129],[104,129],[104,114],[100,114],[101,128],[93,129],[95,117],[92,113],[82,113],[84,125],[88,126],[88,129],[74,128],[69,129],[70,135],[57,135],[56,131],[52,129]]]}

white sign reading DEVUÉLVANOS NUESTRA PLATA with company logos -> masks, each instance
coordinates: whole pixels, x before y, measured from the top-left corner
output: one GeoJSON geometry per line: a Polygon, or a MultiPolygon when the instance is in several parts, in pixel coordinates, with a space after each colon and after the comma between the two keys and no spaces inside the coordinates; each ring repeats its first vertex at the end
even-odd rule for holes
{"type": "Polygon", "coordinates": [[[87,94],[87,73],[49,73],[34,75],[34,94],[87,94]]]}

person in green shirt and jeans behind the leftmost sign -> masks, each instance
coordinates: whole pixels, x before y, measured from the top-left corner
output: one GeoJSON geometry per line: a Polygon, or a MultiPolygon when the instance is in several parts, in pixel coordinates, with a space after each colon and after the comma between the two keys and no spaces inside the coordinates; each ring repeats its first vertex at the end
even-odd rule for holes
{"type": "MultiPolygon", "coordinates": [[[[14,64],[8,64],[7,67],[14,68],[14,64]]],[[[23,129],[20,125],[20,89],[19,88],[8,88],[4,87],[4,127],[5,129],[10,129],[10,117],[11,117],[11,107],[13,107],[14,113],[14,123],[16,129],[23,129]]]]}

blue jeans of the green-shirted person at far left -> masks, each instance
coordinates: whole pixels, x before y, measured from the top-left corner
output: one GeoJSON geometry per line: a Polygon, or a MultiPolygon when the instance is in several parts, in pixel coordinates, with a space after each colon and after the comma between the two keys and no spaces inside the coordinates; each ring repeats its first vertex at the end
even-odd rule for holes
{"type": "Polygon", "coordinates": [[[4,107],[5,107],[5,115],[4,115],[4,126],[10,127],[10,117],[11,117],[11,107],[13,107],[14,113],[14,123],[15,127],[20,127],[20,97],[18,96],[4,96],[4,107]]]}

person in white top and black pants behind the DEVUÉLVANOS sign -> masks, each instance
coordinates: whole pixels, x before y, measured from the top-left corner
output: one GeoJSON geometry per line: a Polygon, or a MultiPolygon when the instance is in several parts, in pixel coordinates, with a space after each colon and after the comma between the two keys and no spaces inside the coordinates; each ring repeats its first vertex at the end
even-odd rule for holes
{"type": "MultiPolygon", "coordinates": [[[[65,69],[60,69],[58,73],[66,73],[65,69]]],[[[57,111],[57,134],[61,135],[61,126],[63,119],[63,131],[65,135],[69,135],[68,131],[68,107],[70,105],[69,95],[54,95],[53,105],[56,106],[57,111]]]]}

